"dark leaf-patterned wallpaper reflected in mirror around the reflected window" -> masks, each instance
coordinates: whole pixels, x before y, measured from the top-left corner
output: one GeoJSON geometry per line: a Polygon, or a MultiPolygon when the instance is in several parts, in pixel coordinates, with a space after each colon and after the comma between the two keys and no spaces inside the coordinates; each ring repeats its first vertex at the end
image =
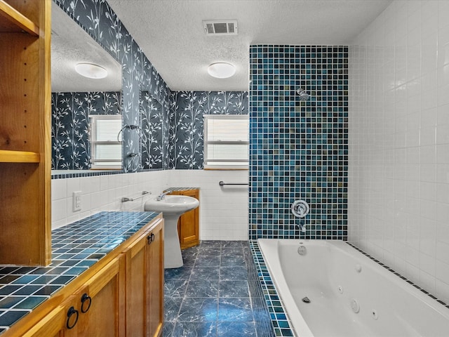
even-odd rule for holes
{"type": "Polygon", "coordinates": [[[88,118],[91,114],[120,114],[121,93],[51,94],[51,168],[91,168],[88,118]]]}

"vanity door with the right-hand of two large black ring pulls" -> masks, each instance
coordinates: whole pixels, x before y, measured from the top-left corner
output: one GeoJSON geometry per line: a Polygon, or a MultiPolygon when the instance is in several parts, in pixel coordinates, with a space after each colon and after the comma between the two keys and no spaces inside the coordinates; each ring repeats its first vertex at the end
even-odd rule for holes
{"type": "Polygon", "coordinates": [[[77,291],[76,336],[125,336],[124,260],[115,258],[77,291]]]}

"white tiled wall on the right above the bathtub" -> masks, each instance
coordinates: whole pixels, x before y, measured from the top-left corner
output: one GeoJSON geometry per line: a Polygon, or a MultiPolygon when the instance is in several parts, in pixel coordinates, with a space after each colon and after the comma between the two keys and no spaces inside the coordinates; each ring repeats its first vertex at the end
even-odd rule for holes
{"type": "Polygon", "coordinates": [[[349,241],[449,302],[449,1],[393,1],[349,48],[349,241]]]}

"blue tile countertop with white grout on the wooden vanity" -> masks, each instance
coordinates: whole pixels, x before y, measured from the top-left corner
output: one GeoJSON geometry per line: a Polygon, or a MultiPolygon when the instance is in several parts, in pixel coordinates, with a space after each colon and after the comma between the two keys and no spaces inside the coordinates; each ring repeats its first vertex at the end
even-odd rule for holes
{"type": "Polygon", "coordinates": [[[0,265],[0,333],[158,216],[101,212],[51,232],[48,267],[0,265]]]}

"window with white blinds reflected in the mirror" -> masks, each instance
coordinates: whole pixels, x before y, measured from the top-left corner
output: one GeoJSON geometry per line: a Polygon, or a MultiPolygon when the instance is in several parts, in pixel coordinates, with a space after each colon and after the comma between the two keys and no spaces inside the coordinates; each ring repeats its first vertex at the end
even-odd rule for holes
{"type": "Polygon", "coordinates": [[[89,119],[91,168],[121,169],[121,114],[95,114],[89,119]]]}

